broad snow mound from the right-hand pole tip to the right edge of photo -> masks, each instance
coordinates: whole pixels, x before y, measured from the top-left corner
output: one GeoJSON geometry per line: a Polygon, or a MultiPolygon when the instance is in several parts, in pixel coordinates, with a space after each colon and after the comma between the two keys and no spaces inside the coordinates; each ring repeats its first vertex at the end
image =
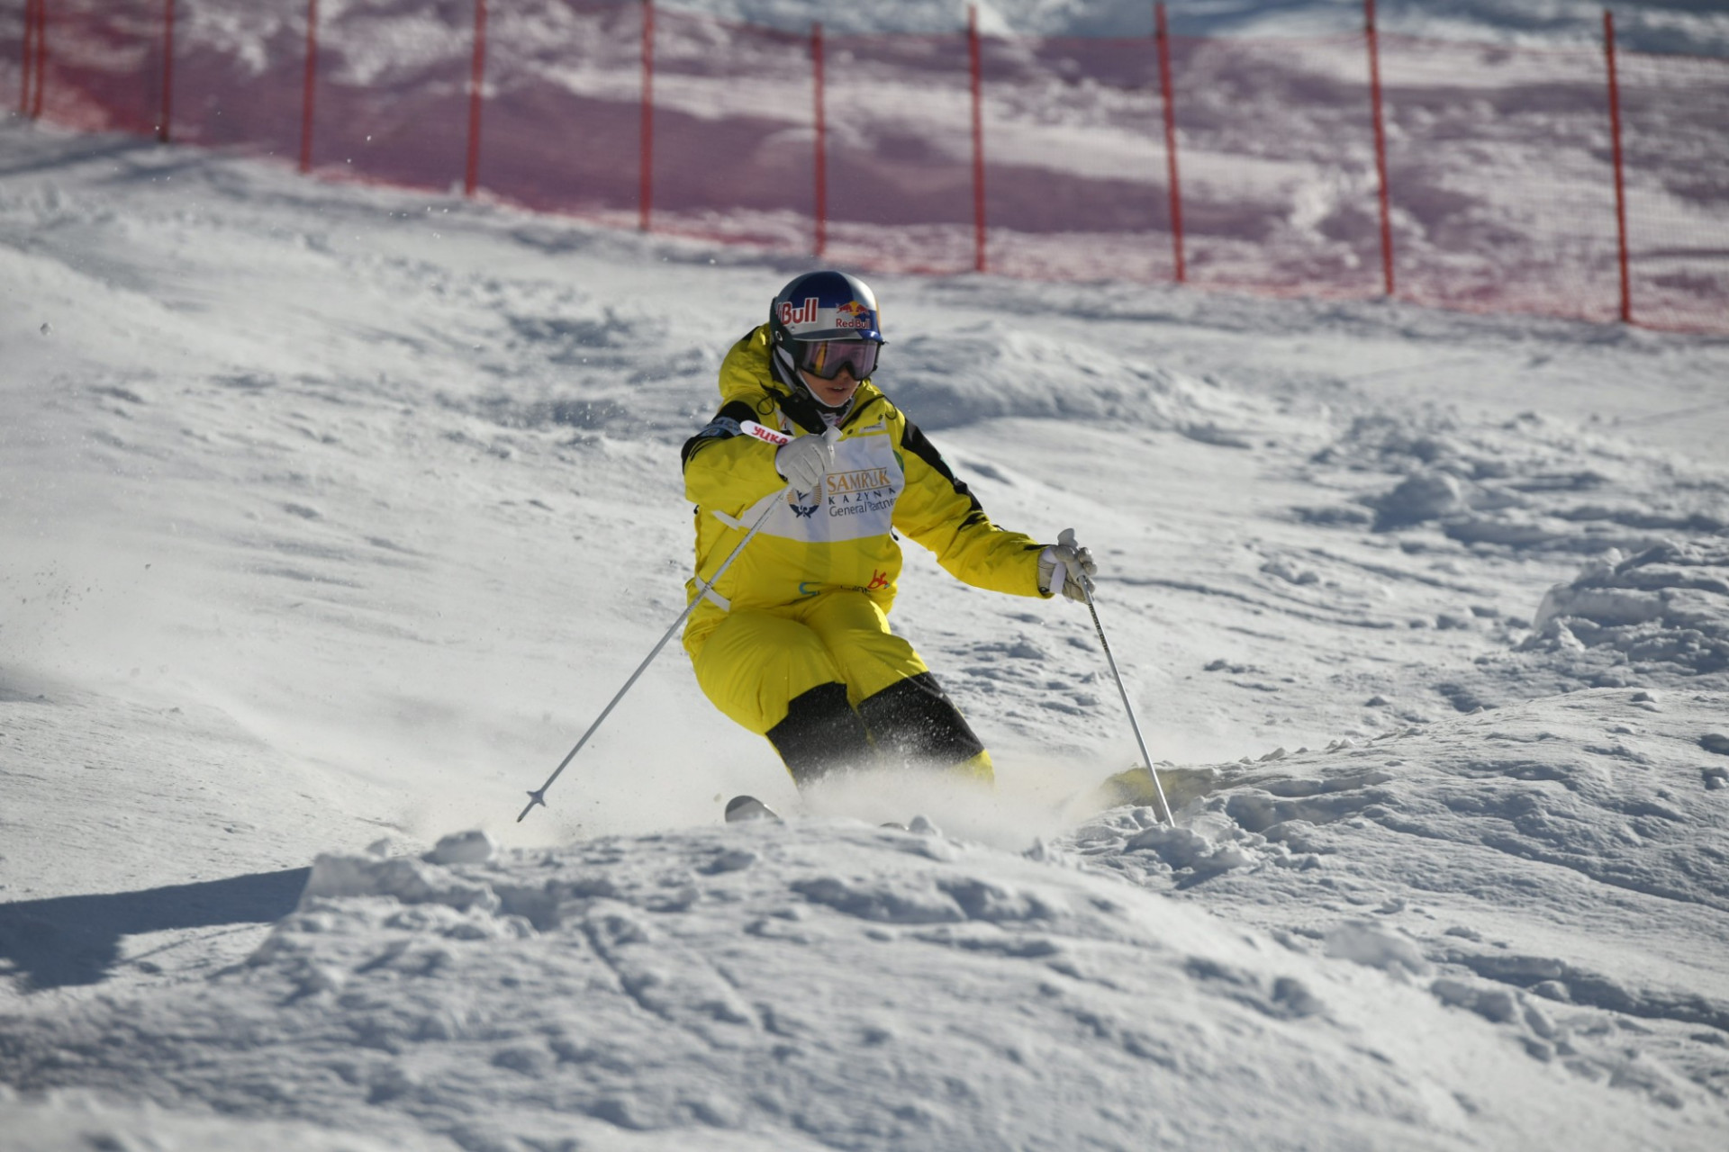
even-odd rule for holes
{"type": "MultiPolygon", "coordinates": [[[[1072,843],[1138,883],[1193,886],[1233,869],[1278,877],[1324,867],[1323,829],[1378,824],[1432,846],[1506,853],[1503,870],[1561,864],[1599,884],[1729,912],[1729,876],[1710,864],[1729,855],[1729,827],[1705,796],[1720,789],[1717,765],[1701,770],[1715,756],[1700,755],[1715,739],[1698,706],[1589,689],[1319,753],[1164,767],[1181,827],[1148,834],[1152,810],[1117,808],[1072,843]]],[[[1713,1019],[1729,1024],[1729,1002],[1713,1019]]]]}

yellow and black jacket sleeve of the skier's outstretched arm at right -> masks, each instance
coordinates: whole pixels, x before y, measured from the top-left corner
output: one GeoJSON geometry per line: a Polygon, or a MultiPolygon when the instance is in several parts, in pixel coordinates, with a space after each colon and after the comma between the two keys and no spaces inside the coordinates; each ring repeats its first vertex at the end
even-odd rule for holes
{"type": "Polygon", "coordinates": [[[1041,596],[1039,553],[1030,535],[991,523],[979,499],[942,461],[916,425],[901,430],[901,468],[906,491],[894,506],[894,527],[937,556],[956,580],[992,592],[1041,596]]]}

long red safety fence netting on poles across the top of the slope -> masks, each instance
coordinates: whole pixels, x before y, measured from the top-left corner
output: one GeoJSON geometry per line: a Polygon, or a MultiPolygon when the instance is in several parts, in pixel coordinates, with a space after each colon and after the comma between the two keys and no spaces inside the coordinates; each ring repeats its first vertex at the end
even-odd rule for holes
{"type": "MultiPolygon", "coordinates": [[[[1383,181],[1364,33],[818,38],[491,0],[479,41],[479,5],[0,0],[0,95],[35,114],[40,78],[78,130],[859,268],[1171,282],[1181,250],[1202,287],[1373,297],[1390,271],[1421,304],[1622,314],[1603,47],[1380,35],[1383,181]]],[[[1617,74],[1629,314],[1729,332],[1729,62],[1617,74]]]]}

